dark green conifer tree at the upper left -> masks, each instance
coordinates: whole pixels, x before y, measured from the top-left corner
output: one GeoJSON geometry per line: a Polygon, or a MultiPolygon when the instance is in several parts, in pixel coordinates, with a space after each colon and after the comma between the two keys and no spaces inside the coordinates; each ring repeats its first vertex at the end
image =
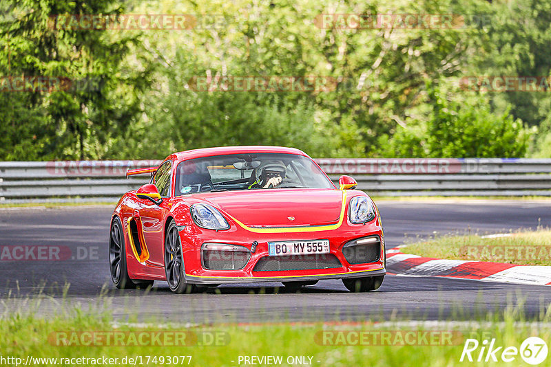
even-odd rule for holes
{"type": "Polygon", "coordinates": [[[9,117],[3,124],[12,124],[2,126],[12,145],[0,159],[101,157],[95,146],[124,130],[140,112],[136,92],[143,91],[147,73],[123,69],[136,35],[67,30],[52,26],[50,16],[121,14],[121,4],[11,0],[6,5],[13,16],[0,22],[2,76],[66,78],[72,86],[89,82],[54,91],[5,91],[12,96],[2,97],[10,102],[1,105],[0,116],[9,117]]]}

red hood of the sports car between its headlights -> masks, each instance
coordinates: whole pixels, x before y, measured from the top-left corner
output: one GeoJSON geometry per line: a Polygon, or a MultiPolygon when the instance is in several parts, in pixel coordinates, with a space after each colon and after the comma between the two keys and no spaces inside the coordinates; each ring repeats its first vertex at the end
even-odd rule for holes
{"type": "Polygon", "coordinates": [[[342,191],[274,189],[213,192],[202,198],[250,226],[289,227],[337,223],[342,191]]]}

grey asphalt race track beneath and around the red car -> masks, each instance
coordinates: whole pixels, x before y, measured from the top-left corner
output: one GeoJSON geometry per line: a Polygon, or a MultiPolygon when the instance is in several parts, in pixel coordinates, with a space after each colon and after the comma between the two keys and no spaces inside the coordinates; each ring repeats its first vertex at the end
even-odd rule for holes
{"type": "MultiPolygon", "coordinates": [[[[379,208],[388,248],[435,232],[551,227],[551,201],[381,201],[379,208]]],[[[163,282],[155,282],[151,291],[120,291],[111,284],[107,265],[111,212],[109,206],[0,208],[0,246],[70,249],[67,260],[0,260],[0,312],[30,307],[34,301],[28,298],[38,293],[48,296],[37,307],[40,313],[58,312],[64,299],[65,304],[110,309],[116,320],[138,322],[470,320],[519,303],[526,315],[538,318],[551,303],[551,287],[391,275],[370,293],[350,293],[339,280],[320,281],[300,293],[279,283],[221,286],[186,295],[172,294],[163,282]]]]}

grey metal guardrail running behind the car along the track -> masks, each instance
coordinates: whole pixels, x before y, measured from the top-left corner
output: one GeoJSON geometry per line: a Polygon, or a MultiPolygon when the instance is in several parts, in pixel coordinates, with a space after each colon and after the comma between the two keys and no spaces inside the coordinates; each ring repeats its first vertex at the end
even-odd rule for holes
{"type": "MultiPolygon", "coordinates": [[[[315,159],[335,182],[351,175],[380,196],[551,196],[551,159],[315,159]]],[[[146,183],[127,168],[160,161],[0,162],[0,203],[116,201],[146,183]]]]}

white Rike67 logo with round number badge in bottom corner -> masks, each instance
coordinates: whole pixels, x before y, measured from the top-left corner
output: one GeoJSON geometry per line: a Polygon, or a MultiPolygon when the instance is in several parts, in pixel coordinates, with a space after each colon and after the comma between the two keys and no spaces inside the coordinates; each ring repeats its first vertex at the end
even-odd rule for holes
{"type": "Polygon", "coordinates": [[[520,346],[497,346],[495,338],[479,343],[476,339],[467,339],[459,362],[513,362],[517,357],[527,364],[537,365],[545,361],[548,354],[547,343],[539,337],[528,337],[520,346]]]}

